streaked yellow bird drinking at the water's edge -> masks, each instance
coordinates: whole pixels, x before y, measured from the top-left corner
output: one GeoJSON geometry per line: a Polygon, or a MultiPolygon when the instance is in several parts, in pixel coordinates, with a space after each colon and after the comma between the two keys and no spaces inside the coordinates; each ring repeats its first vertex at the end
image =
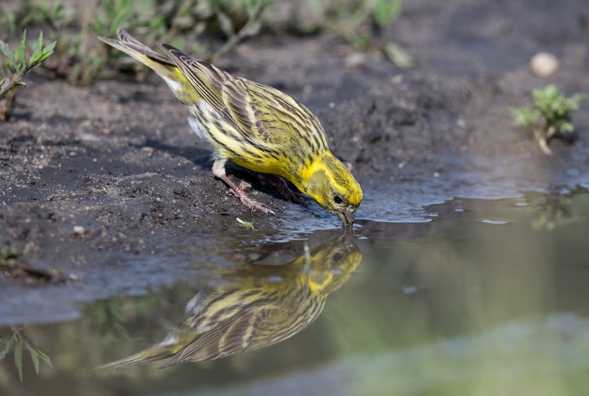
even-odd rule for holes
{"type": "Polygon", "coordinates": [[[123,29],[117,39],[98,37],[152,68],[190,112],[188,124],[213,146],[213,174],[250,209],[274,213],[225,173],[229,160],[244,168],[290,180],[343,225],[351,227],[362,201],[352,173],[333,156],[325,131],[299,101],[267,85],[237,77],[158,43],[160,55],[123,29]]]}

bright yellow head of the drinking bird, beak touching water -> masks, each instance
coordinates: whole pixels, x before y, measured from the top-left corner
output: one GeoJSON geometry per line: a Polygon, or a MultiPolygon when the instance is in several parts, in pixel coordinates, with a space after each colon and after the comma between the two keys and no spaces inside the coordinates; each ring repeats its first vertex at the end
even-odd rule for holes
{"type": "Polygon", "coordinates": [[[327,212],[333,212],[345,227],[352,227],[356,209],[362,201],[360,184],[342,161],[326,151],[306,171],[302,191],[320,204],[327,212]]]}

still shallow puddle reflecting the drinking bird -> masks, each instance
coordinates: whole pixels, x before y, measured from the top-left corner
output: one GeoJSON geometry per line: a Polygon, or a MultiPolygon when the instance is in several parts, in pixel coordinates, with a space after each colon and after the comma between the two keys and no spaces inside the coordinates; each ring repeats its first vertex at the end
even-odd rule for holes
{"type": "Polygon", "coordinates": [[[589,394],[589,194],[425,213],[246,248],[75,321],[4,326],[0,394],[589,394]],[[130,362],[164,359],[97,369],[154,344],[130,362]]]}

